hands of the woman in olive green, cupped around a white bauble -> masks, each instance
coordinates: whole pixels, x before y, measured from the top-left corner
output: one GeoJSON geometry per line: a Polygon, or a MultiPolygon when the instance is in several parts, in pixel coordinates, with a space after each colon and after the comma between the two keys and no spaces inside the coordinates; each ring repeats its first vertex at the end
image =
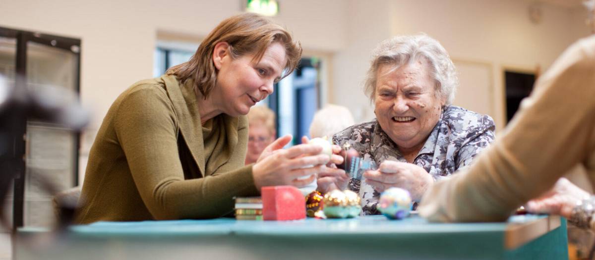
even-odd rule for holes
{"type": "MultiPolygon", "coordinates": [[[[264,186],[293,185],[305,186],[313,182],[317,173],[333,175],[325,164],[331,161],[318,145],[300,144],[287,150],[283,148],[291,141],[291,136],[278,138],[270,144],[258,162],[252,167],[254,184],[259,190],[264,186]],[[268,154],[264,154],[264,153],[268,154]],[[315,155],[312,155],[315,154],[315,155]],[[309,176],[306,179],[300,177],[309,176]]],[[[345,172],[343,172],[345,174],[345,172]]]]}

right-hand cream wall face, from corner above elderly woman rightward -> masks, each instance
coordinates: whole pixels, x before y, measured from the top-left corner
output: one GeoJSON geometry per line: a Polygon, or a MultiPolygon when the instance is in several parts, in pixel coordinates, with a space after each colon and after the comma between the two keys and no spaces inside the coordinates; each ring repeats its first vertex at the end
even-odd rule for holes
{"type": "MultiPolygon", "coordinates": [[[[496,94],[491,116],[501,129],[503,67],[545,69],[575,40],[569,30],[577,27],[570,10],[542,4],[542,21],[534,24],[528,17],[529,5],[516,0],[394,1],[393,33],[424,31],[439,40],[453,59],[491,63],[496,94]]],[[[459,99],[468,96],[459,93],[459,99]]]]}

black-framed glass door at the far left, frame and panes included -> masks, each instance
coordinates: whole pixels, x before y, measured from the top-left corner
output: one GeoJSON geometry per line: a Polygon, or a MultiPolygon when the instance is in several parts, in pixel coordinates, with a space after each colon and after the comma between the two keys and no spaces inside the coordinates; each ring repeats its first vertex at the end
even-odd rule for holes
{"type": "Polygon", "coordinates": [[[0,192],[14,177],[3,201],[13,230],[54,224],[54,192],[78,185],[79,134],[54,122],[71,121],[57,108],[76,101],[79,75],[79,39],[0,27],[0,77],[18,97],[0,107],[9,112],[0,113],[0,174],[9,176],[0,192]]]}

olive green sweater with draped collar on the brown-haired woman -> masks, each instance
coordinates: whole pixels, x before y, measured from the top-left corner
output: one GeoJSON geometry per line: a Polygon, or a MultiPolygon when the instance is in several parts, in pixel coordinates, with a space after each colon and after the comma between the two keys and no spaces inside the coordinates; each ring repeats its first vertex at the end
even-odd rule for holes
{"type": "Polygon", "coordinates": [[[109,108],[90,150],[77,223],[215,218],[258,195],[243,166],[246,116],[201,125],[192,82],[140,81],[109,108]]]}

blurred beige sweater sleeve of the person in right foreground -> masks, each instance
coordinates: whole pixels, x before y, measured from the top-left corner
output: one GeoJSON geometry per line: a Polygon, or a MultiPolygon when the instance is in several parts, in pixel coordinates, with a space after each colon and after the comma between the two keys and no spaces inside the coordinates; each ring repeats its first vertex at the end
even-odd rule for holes
{"type": "Polygon", "coordinates": [[[569,47],[536,83],[502,135],[471,166],[437,182],[430,221],[502,221],[582,163],[595,146],[595,36],[569,47]]]}

